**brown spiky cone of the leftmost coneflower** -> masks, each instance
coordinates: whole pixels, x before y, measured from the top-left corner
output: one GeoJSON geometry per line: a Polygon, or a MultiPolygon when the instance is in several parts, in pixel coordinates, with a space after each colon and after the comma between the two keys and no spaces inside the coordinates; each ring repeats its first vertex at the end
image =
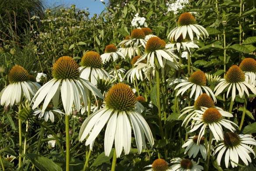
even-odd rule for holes
{"type": "Polygon", "coordinates": [[[28,71],[20,65],[14,65],[8,74],[10,83],[28,81],[28,71]]]}

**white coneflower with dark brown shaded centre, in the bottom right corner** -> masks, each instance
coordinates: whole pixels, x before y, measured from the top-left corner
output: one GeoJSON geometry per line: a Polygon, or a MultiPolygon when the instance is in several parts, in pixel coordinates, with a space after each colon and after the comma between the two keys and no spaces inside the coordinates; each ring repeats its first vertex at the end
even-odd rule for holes
{"type": "Polygon", "coordinates": [[[218,153],[217,164],[221,165],[221,159],[225,153],[224,160],[226,168],[228,168],[229,161],[232,168],[236,167],[239,162],[239,158],[248,166],[248,161],[250,163],[252,162],[249,153],[252,153],[255,158],[255,153],[249,145],[256,145],[256,140],[253,139],[251,135],[238,135],[236,133],[227,132],[224,134],[223,142],[216,146],[216,150],[214,150],[213,155],[218,153]]]}

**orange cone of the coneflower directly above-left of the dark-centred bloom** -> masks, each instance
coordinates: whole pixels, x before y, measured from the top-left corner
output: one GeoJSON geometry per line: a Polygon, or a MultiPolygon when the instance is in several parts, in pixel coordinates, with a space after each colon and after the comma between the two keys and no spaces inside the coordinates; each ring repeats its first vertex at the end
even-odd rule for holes
{"type": "Polygon", "coordinates": [[[215,108],[209,108],[204,111],[203,121],[204,123],[216,123],[222,118],[221,113],[215,108]]]}

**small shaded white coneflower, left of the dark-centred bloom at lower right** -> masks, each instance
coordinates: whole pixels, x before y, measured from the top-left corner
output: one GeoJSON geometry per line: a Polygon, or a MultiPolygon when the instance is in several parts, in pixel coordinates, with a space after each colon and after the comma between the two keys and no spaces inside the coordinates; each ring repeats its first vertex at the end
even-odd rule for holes
{"type": "Polygon", "coordinates": [[[204,137],[201,137],[199,144],[197,144],[198,136],[189,137],[187,141],[182,145],[182,148],[186,147],[184,154],[188,153],[188,157],[197,157],[200,151],[204,160],[207,157],[207,150],[205,148],[204,137]]]}

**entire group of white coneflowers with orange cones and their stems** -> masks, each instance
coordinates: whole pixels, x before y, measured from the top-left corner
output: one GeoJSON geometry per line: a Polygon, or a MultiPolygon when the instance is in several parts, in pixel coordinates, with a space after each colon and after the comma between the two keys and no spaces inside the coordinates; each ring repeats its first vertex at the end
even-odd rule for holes
{"type": "MultiPolygon", "coordinates": [[[[134,29],[130,36],[120,42],[118,45],[120,48],[114,44],[107,45],[102,55],[95,51],[87,51],[81,59],[80,67],[73,58],[62,56],[53,65],[53,79],[42,87],[29,80],[28,71],[15,65],[8,75],[10,84],[0,92],[0,104],[19,105],[20,110],[22,103],[29,104],[34,110],[34,115],[39,114],[39,118],[44,116],[45,121],[50,119],[54,122],[54,113],[65,114],[67,171],[69,170],[69,115],[73,110],[81,110],[82,114],[87,113],[79,132],[79,140],[86,139],[85,145],[90,146],[85,166],[88,164],[96,137],[107,125],[104,152],[109,156],[114,144],[111,168],[114,170],[116,157],[121,156],[123,149],[125,155],[130,152],[132,132],[138,154],[147,148],[145,139],[148,140],[150,147],[154,145],[152,132],[141,114],[144,110],[149,110],[139,103],[139,101],[148,101],[153,83],[157,87],[157,121],[160,135],[164,139],[162,115],[166,120],[166,113],[162,114],[161,110],[160,83],[168,72],[174,72],[183,66],[181,51],[188,51],[188,74],[183,75],[182,79],[181,75],[178,75],[177,79],[164,80],[169,82],[169,88],[179,83],[174,87],[175,96],[186,94],[189,99],[189,106],[181,111],[179,111],[177,100],[175,101],[180,117],[184,117],[182,125],[185,126],[187,135],[194,134],[191,137],[186,136],[185,144],[182,146],[188,158],[173,158],[170,166],[165,160],[156,159],[152,165],[147,166],[150,167],[148,171],[200,171],[204,169],[199,165],[200,161],[195,162],[192,158],[202,157],[205,166],[208,166],[210,156],[217,154],[217,164],[221,165],[223,159],[226,168],[229,167],[229,163],[232,168],[236,167],[239,164],[239,158],[248,165],[252,161],[249,154],[252,153],[255,157],[252,146],[256,145],[256,140],[251,135],[235,133],[239,126],[230,120],[233,117],[232,110],[226,112],[215,106],[215,103],[217,103],[216,96],[225,91],[227,91],[226,98],[229,92],[232,92],[231,105],[235,100],[236,92],[240,98],[245,96],[245,100],[249,92],[256,94],[256,61],[250,58],[244,59],[239,66],[230,67],[223,79],[204,74],[203,71],[193,71],[190,68],[190,50],[198,48],[194,43],[194,34],[199,39],[208,36],[208,33],[204,27],[196,24],[195,18],[190,13],[181,14],[177,23],[178,27],[168,35],[169,44],[153,35],[151,29],[142,28],[134,29]],[[122,60],[130,62],[131,69],[128,72],[118,65],[122,60]],[[113,70],[108,73],[103,66],[110,63],[113,65],[113,70]],[[131,86],[124,81],[133,83],[137,98],[131,86]],[[114,84],[114,82],[118,83],[114,84]],[[143,86],[145,98],[141,96],[142,91],[139,86],[143,86]],[[61,99],[63,111],[58,109],[59,99],[61,99]],[[191,106],[193,100],[194,105],[191,106]],[[92,106],[94,106],[93,110],[92,106]],[[225,130],[229,132],[224,132],[225,130]],[[222,157],[224,153],[225,157],[222,157]]],[[[238,131],[241,130],[244,117],[243,113],[238,131]]],[[[19,126],[21,130],[20,119],[19,126]]],[[[19,138],[21,155],[21,133],[19,138]]],[[[20,167],[21,156],[19,157],[20,167]]]]}

